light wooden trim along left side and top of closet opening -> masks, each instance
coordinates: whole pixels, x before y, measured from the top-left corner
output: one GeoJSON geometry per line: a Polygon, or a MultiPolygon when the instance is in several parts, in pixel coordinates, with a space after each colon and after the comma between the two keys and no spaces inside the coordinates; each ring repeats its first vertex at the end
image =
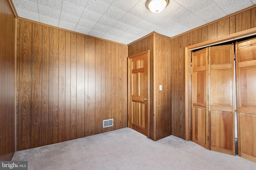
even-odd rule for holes
{"type": "Polygon", "coordinates": [[[256,27],[185,47],[185,139],[191,139],[191,49],[210,46],[223,41],[232,41],[256,33],[256,27]]]}

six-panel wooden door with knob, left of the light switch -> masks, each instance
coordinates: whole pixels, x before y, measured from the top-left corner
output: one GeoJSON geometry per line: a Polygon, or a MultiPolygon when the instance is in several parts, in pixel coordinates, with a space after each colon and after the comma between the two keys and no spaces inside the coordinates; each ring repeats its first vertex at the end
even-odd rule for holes
{"type": "Polygon", "coordinates": [[[128,126],[149,137],[149,51],[128,57],[128,126]]]}

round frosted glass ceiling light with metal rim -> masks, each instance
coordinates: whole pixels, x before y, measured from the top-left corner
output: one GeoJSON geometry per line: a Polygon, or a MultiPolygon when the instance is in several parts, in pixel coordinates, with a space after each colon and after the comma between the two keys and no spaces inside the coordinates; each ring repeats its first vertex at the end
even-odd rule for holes
{"type": "Polygon", "coordinates": [[[159,13],[169,4],[169,0],[148,0],[146,2],[147,8],[154,12],[159,13]]]}

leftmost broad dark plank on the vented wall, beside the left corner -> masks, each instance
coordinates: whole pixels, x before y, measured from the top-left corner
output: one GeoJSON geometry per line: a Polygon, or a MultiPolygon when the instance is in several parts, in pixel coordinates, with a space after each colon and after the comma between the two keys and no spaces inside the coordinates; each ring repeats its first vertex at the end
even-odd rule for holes
{"type": "Polygon", "coordinates": [[[19,150],[31,147],[32,23],[20,22],[19,150]]]}

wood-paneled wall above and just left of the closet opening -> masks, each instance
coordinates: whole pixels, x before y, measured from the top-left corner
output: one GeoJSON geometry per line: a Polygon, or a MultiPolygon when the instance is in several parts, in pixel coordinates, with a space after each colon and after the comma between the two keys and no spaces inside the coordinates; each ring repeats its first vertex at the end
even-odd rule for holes
{"type": "MultiPolygon", "coordinates": [[[[185,139],[185,48],[189,45],[202,43],[204,41],[218,39],[225,35],[238,33],[256,27],[256,7],[255,5],[222,18],[216,20],[208,25],[203,25],[184,34],[172,37],[172,59],[178,60],[178,64],[171,61],[172,70],[177,72],[177,76],[172,76],[172,82],[175,82],[178,86],[172,86],[172,135],[185,139]],[[174,88],[175,87],[175,88],[174,88]]],[[[174,72],[171,72],[173,75],[174,72]]],[[[190,120],[188,120],[190,121],[190,120]]],[[[189,130],[189,129],[187,129],[189,130]]],[[[190,138],[189,138],[190,139],[190,138]]]]}

